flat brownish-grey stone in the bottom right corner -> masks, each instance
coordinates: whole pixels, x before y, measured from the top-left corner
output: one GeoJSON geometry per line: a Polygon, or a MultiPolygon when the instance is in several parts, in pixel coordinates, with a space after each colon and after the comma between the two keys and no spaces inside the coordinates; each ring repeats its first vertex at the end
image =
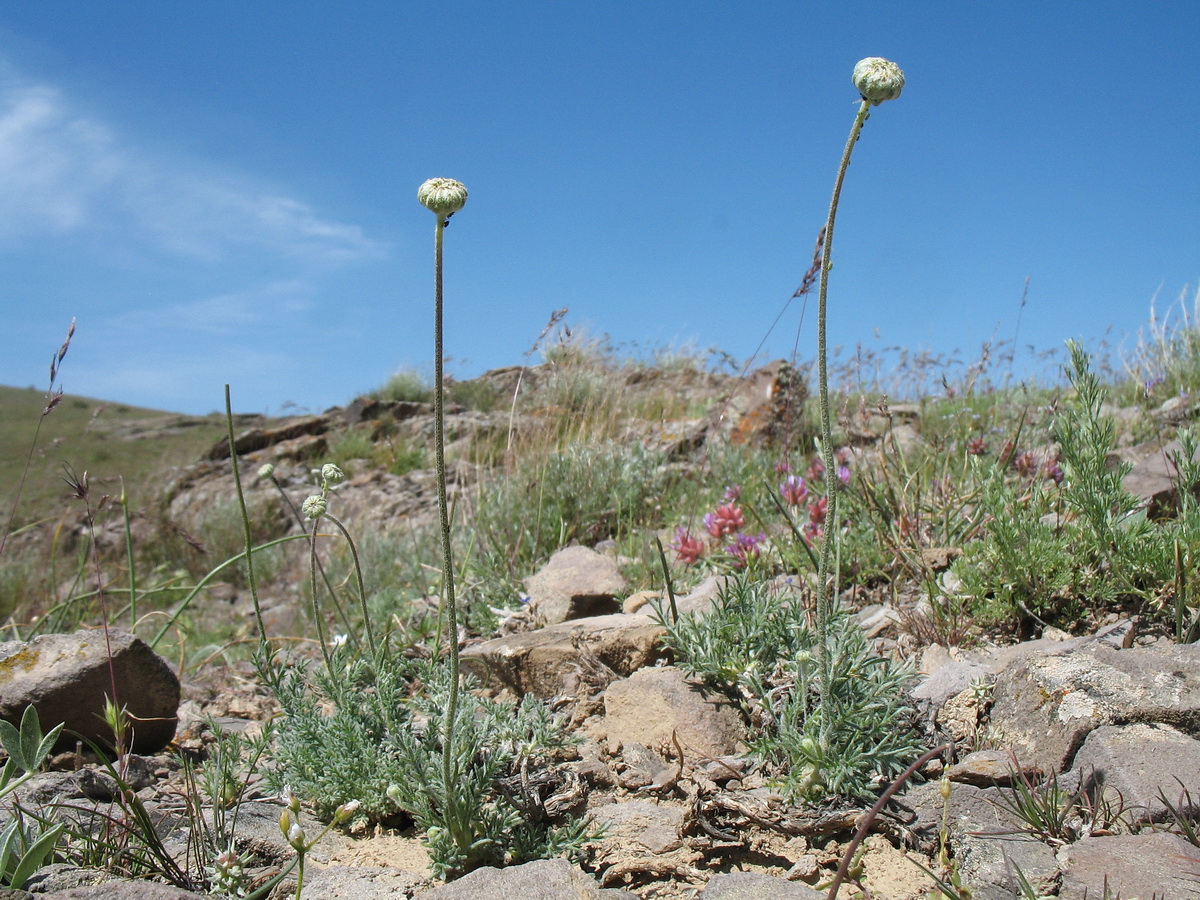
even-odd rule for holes
{"type": "Polygon", "coordinates": [[[1058,851],[1058,900],[1184,900],[1200,883],[1200,847],[1165,832],[1084,838],[1058,851]]]}

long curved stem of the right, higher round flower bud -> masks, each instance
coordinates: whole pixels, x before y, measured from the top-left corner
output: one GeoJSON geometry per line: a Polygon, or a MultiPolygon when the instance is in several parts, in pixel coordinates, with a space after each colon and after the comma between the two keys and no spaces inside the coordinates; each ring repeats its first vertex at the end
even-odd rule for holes
{"type": "MultiPolygon", "coordinates": [[[[821,458],[824,464],[824,486],[828,506],[826,509],[824,540],[821,542],[821,559],[817,566],[817,632],[818,646],[824,647],[829,611],[833,607],[834,586],[829,577],[829,563],[833,560],[833,545],[838,540],[838,472],[833,455],[833,425],[829,415],[829,371],[826,353],[826,299],[829,294],[829,270],[833,269],[833,226],[838,216],[838,199],[841,197],[841,184],[850,168],[850,155],[854,151],[858,134],[870,115],[871,103],[864,100],[858,107],[854,125],[850,130],[850,139],[841,152],[841,164],[838,167],[838,179],[833,185],[833,199],[829,202],[829,218],[826,221],[824,253],[821,262],[821,289],[817,295],[817,386],[821,398],[821,458]]],[[[836,577],[836,576],[834,576],[836,577]]]]}

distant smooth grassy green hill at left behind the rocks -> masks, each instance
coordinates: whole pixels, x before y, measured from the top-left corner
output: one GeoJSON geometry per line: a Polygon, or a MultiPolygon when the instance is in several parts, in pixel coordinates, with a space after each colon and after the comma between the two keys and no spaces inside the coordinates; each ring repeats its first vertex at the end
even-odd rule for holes
{"type": "MultiPolygon", "coordinates": [[[[20,473],[46,406],[44,391],[0,385],[0,528],[8,521],[20,473]]],[[[247,416],[239,416],[246,421],[247,416]]],[[[56,518],[67,498],[64,463],[88,473],[94,500],[120,494],[142,509],[173,467],[196,458],[224,434],[220,415],[193,416],[66,395],[42,421],[17,524],[56,518]]]]}

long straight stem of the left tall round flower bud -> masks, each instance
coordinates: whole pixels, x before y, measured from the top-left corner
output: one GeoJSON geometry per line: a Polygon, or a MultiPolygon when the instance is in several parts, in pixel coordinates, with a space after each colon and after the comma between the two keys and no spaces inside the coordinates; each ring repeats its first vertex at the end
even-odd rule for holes
{"type": "Polygon", "coordinates": [[[442,520],[442,596],[446,611],[446,635],[450,649],[450,698],[446,701],[442,737],[442,784],[445,799],[456,793],[454,773],[454,724],[458,715],[458,616],[454,595],[454,556],[450,548],[450,504],[446,500],[445,410],[443,409],[442,371],[442,235],[445,220],[437,216],[433,232],[433,449],[438,476],[438,515],[442,520]]]}

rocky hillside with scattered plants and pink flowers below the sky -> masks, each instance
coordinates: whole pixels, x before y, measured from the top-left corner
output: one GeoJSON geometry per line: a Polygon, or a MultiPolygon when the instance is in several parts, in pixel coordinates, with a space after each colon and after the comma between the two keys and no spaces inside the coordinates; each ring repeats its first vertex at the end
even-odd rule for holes
{"type": "MultiPolygon", "coordinates": [[[[473,864],[449,883],[436,877],[444,857],[427,852],[432,829],[390,799],[407,796],[397,773],[412,772],[391,767],[422,751],[388,728],[420,738],[444,710],[428,667],[446,640],[430,404],[362,397],[244,422],[233,450],[256,542],[304,538],[296,510],[334,462],[346,479],[329,511],[356,541],[365,592],[336,528],[322,528],[319,571],[307,540],[256,553],[281,666],[308,674],[256,672],[241,649],[257,616],[241,568],[187,588],[240,547],[228,442],[178,469],[133,520],[150,566],[142,610],[152,611],[132,629],[143,641],[119,640],[136,662],[109,667],[92,630],[71,638],[78,649],[55,643],[50,673],[36,668],[47,638],[0,648],[10,719],[35,702],[90,722],[110,685],[155,700],[130,707],[134,726],[173,721],[167,746],[162,727],[143,728],[120,773],[67,748],[59,770],[14,794],[26,808],[68,804],[84,822],[97,811],[128,822],[136,791],[164,854],[104,866],[64,851],[25,889],[175,898],[236,883],[223,895],[245,896],[282,874],[274,895],[294,893],[295,844],[277,826],[286,781],[304,802],[301,834],[361,803],[348,832],[311,848],[319,868],[305,898],[787,900],[827,896],[834,881],[841,896],[888,900],[1184,896],[1200,884],[1193,407],[1148,391],[1116,403],[1120,391],[1086,374],[1045,391],[841,400],[828,476],[844,498],[845,614],[822,640],[848,668],[820,676],[806,668],[821,658],[811,560],[832,524],[793,370],[575,361],[454,385],[446,456],[467,617],[455,640],[476,685],[464,701],[480,742],[472,764],[504,761],[492,809],[562,835],[572,822],[590,830],[562,836],[551,860],[481,850],[512,865],[473,864]],[[376,635],[391,634],[388,661],[366,649],[361,607],[376,635]],[[143,642],[179,662],[148,662],[143,642]],[[398,685],[395,697],[384,684],[398,685]],[[163,697],[181,700],[173,712],[163,697]],[[504,712],[522,698],[553,710],[569,739],[530,725],[545,743],[510,760],[484,724],[526,721],[504,712]],[[413,712],[353,743],[394,707],[413,712]],[[230,736],[253,739],[272,716],[271,749],[229,762],[242,740],[230,736]],[[222,758],[224,799],[185,778],[186,761],[222,758]],[[889,784],[899,792],[868,814],[889,784]],[[196,798],[193,812],[180,797],[196,798]],[[215,833],[234,854],[220,865],[215,833]],[[82,886],[128,876],[143,883],[82,886]]],[[[116,612],[130,593],[122,533],[101,523],[97,559],[113,624],[130,630],[130,611],[116,612]]],[[[55,583],[73,602],[60,623],[95,624],[89,581],[55,583]]]]}

